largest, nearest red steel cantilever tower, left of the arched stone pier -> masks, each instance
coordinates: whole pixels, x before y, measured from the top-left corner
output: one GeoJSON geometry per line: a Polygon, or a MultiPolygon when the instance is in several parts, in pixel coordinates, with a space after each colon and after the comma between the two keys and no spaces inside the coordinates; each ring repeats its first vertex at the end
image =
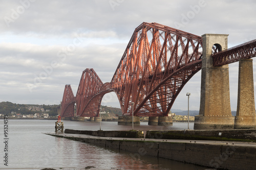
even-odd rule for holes
{"type": "Polygon", "coordinates": [[[185,83],[201,69],[202,37],[143,22],[112,78],[122,112],[166,116],[185,83]]]}

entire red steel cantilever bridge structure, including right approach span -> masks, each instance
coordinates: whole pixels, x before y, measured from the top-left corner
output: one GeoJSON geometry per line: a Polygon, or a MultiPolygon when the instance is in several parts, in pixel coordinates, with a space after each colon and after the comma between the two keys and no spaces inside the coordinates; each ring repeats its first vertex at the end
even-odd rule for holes
{"type": "MultiPolygon", "coordinates": [[[[103,95],[114,91],[122,113],[167,116],[184,85],[202,68],[202,37],[158,23],[143,22],[129,41],[110,83],[103,83],[93,68],[82,72],[74,96],[66,85],[61,117],[99,116],[103,95]]],[[[256,56],[256,40],[221,51],[212,47],[214,66],[256,56]]]]}

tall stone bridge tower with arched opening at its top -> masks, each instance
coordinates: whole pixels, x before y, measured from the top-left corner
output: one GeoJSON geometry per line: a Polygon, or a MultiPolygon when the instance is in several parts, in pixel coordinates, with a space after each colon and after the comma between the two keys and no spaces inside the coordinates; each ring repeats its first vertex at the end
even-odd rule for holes
{"type": "Polygon", "coordinates": [[[219,51],[227,48],[227,36],[223,34],[204,34],[201,99],[199,115],[195,116],[194,129],[233,129],[234,117],[231,115],[229,96],[228,65],[213,66],[212,46],[219,51]]]}

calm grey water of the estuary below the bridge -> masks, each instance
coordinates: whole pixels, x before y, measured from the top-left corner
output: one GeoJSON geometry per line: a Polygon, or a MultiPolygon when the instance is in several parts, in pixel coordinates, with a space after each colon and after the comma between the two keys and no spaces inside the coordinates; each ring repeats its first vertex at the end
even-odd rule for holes
{"type": "MultiPolygon", "coordinates": [[[[1,122],[1,138],[4,141],[4,120],[1,122]]],[[[205,167],[181,162],[160,159],[151,156],[133,157],[132,153],[119,153],[115,150],[106,150],[88,143],[82,143],[65,138],[45,135],[45,132],[54,132],[56,120],[18,120],[9,119],[8,166],[1,160],[0,169],[33,169],[33,168],[83,168],[94,166],[91,169],[206,169],[205,167]]],[[[99,123],[71,122],[64,120],[65,129],[99,130],[99,123]]],[[[194,125],[191,123],[191,127],[194,125]]],[[[140,130],[167,130],[186,129],[187,123],[174,123],[173,127],[163,128],[148,126],[141,123],[135,126],[140,130]]],[[[102,130],[130,130],[128,126],[118,126],[117,122],[102,122],[102,130]]],[[[191,129],[191,128],[190,128],[191,129]]],[[[4,150],[4,142],[0,144],[4,150]]],[[[1,152],[3,159],[4,153],[1,152]]]]}

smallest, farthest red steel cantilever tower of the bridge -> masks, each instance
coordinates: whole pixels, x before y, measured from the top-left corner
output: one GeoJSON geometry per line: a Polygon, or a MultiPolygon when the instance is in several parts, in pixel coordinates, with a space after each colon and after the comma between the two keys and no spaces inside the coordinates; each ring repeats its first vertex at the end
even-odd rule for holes
{"type": "Polygon", "coordinates": [[[70,85],[66,85],[61,102],[61,117],[74,117],[75,96],[70,85]]]}

